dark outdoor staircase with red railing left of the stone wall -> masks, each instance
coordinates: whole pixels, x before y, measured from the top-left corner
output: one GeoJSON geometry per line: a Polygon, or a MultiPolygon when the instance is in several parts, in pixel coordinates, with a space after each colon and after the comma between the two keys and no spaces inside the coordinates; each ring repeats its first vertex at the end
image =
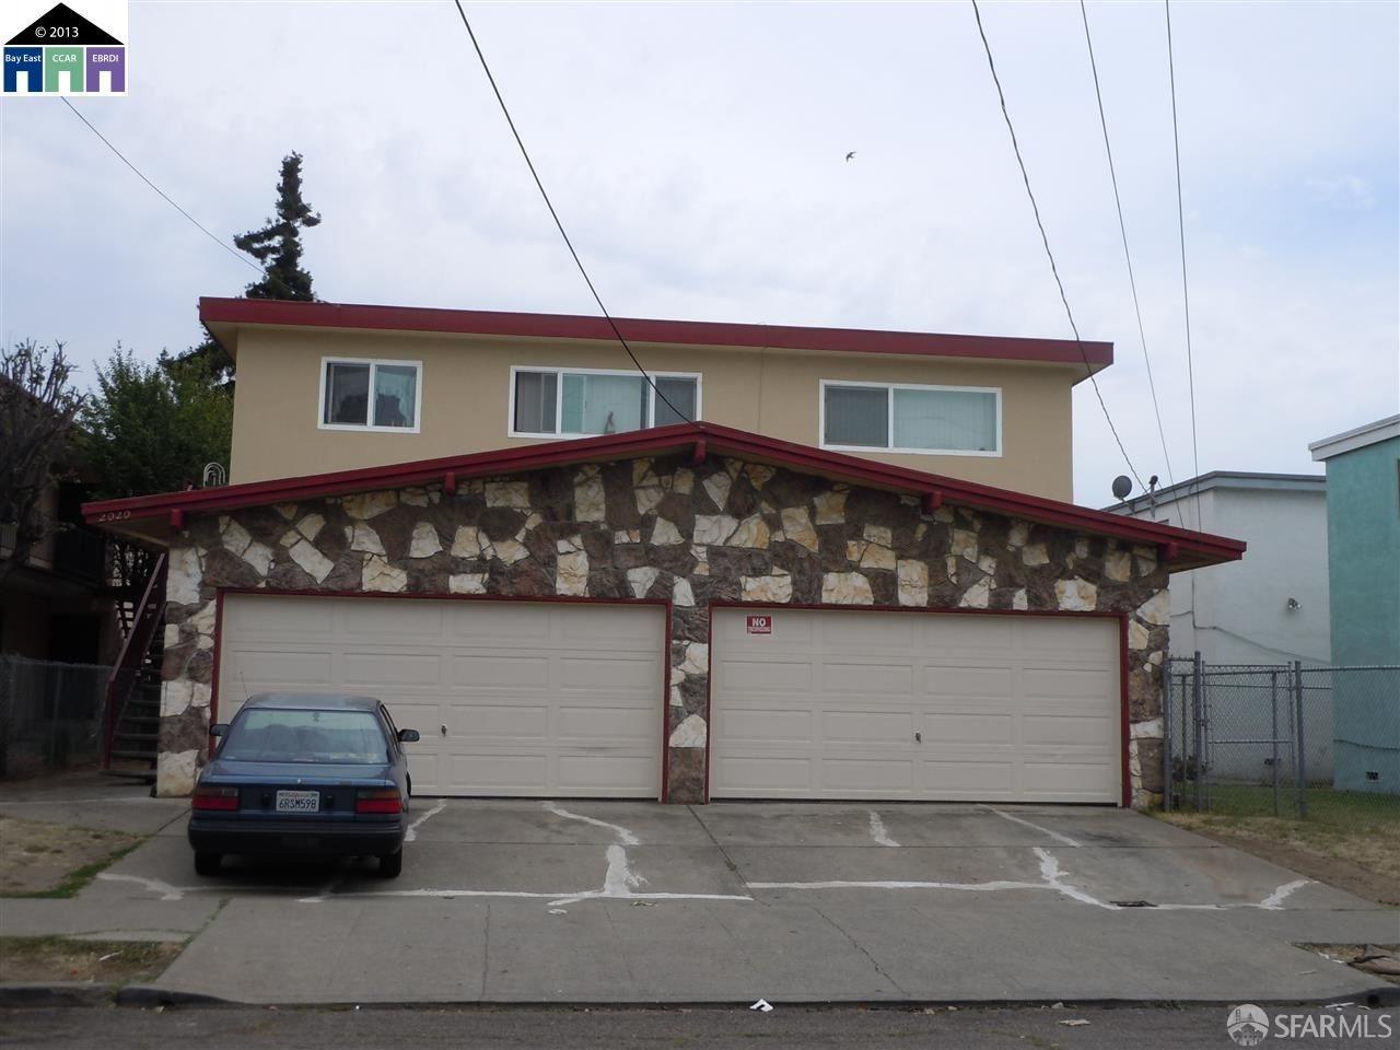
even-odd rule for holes
{"type": "Polygon", "coordinates": [[[102,773],[155,783],[161,717],[161,661],[165,638],[165,554],[146,581],[141,599],[123,610],[129,623],[122,655],[106,679],[102,773]]]}

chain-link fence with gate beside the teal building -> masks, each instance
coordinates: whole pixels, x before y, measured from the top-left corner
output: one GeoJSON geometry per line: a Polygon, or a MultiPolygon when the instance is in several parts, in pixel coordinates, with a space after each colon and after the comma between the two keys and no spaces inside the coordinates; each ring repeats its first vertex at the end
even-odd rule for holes
{"type": "Polygon", "coordinates": [[[1400,665],[1168,661],[1168,809],[1400,822],[1400,665]]]}

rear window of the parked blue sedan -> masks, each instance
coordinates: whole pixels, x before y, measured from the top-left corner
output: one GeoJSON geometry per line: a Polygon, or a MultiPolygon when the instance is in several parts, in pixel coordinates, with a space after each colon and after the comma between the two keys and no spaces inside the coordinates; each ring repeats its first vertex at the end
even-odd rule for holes
{"type": "Polygon", "coordinates": [[[389,760],[389,745],[371,711],[302,711],[260,707],[228,729],[218,757],[231,762],[389,760]]]}

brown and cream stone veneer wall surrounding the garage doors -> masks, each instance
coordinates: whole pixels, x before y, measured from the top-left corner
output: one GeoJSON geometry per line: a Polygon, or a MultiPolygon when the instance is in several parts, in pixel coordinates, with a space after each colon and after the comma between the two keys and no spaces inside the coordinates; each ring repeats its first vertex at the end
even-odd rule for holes
{"type": "Polygon", "coordinates": [[[216,592],[669,598],[669,797],[704,795],[713,601],[1128,613],[1134,805],[1161,791],[1168,574],[1151,546],[711,456],[199,515],[169,552],[158,791],[204,760],[216,592]]]}

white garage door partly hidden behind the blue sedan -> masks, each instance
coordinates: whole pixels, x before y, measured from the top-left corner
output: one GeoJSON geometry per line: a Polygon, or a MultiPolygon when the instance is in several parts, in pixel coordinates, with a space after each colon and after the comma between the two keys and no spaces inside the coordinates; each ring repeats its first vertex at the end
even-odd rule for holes
{"type": "Polygon", "coordinates": [[[382,699],[420,795],[657,798],[657,606],[227,595],[218,720],[248,693],[382,699]]]}

